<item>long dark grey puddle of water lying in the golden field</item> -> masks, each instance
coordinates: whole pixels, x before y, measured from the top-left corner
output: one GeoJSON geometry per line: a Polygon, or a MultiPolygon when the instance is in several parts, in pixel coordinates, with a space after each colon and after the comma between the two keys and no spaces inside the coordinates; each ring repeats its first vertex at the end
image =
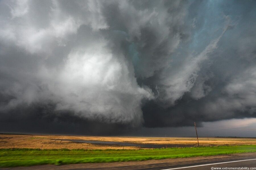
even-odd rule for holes
{"type": "Polygon", "coordinates": [[[113,141],[87,141],[87,140],[75,140],[75,139],[57,139],[60,141],[71,141],[75,143],[91,143],[94,145],[107,145],[107,146],[135,146],[139,148],[173,148],[173,147],[193,147],[195,145],[157,145],[157,144],[141,144],[141,143],[129,143],[129,142],[113,142],[113,141]]]}

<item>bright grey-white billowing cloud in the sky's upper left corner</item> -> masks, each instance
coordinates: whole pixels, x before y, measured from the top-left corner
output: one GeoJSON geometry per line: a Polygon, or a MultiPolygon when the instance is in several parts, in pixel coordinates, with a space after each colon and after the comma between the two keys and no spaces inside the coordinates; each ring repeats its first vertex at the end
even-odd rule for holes
{"type": "Polygon", "coordinates": [[[73,14],[62,9],[60,1],[45,1],[47,4],[44,5],[48,8],[42,9],[43,16],[37,12],[40,4],[33,4],[33,1],[14,2],[6,1],[11,15],[7,16],[8,20],[0,29],[1,38],[14,42],[30,53],[51,53],[54,46],[60,45],[55,43],[56,39],[62,39],[61,44],[65,45],[63,42],[67,36],[75,34],[82,24],[91,25],[94,30],[108,27],[100,14],[99,3],[96,1],[74,2],[80,7],[77,11],[73,11],[73,14]],[[45,24],[42,25],[40,20],[35,21],[34,14],[39,19],[46,20],[45,24]]]}

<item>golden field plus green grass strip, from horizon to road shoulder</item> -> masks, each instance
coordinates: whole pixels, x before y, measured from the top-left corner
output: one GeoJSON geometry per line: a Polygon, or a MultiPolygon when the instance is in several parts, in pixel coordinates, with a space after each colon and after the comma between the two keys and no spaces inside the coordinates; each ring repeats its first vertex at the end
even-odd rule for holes
{"type": "Polygon", "coordinates": [[[255,138],[0,134],[0,167],[104,163],[256,152],[255,138]]]}

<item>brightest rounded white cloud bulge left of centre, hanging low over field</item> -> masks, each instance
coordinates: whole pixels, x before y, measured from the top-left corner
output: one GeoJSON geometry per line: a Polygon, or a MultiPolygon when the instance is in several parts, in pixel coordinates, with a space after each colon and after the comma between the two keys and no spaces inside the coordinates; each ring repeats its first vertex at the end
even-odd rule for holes
{"type": "Polygon", "coordinates": [[[42,69],[49,90],[61,99],[57,110],[70,109],[88,118],[103,116],[112,123],[141,121],[141,99],[151,99],[151,91],[137,85],[124,57],[115,58],[104,43],[74,49],[55,74],[42,69]]]}

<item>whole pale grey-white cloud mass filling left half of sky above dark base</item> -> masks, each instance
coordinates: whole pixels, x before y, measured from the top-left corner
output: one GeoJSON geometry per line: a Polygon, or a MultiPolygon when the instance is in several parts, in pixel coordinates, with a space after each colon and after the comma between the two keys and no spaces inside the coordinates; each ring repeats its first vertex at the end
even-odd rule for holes
{"type": "Polygon", "coordinates": [[[61,1],[49,1],[43,16],[32,15],[36,10],[33,1],[1,3],[7,4],[11,12],[5,18],[7,22],[1,21],[0,39],[23,50],[20,57],[28,61],[17,73],[15,59],[12,71],[1,66],[6,69],[5,74],[16,77],[1,80],[2,85],[9,86],[1,89],[1,94],[13,96],[6,105],[1,105],[1,111],[52,102],[56,104],[55,111],[71,111],[92,120],[135,125],[143,121],[141,100],[152,99],[152,92],[137,84],[133,67],[125,56],[113,53],[111,42],[101,35],[100,30],[108,29],[108,24],[100,1],[76,1],[73,5],[79,7],[77,11],[69,11],[61,1]],[[44,23],[34,20],[36,17],[44,23]],[[90,29],[81,29],[80,35],[85,39],[78,41],[77,31],[84,25],[90,29]],[[74,42],[71,45],[69,41],[74,42]],[[56,52],[63,48],[70,50],[56,52]],[[58,62],[52,67],[49,59],[58,62]],[[38,67],[26,68],[34,64],[38,67]]]}

